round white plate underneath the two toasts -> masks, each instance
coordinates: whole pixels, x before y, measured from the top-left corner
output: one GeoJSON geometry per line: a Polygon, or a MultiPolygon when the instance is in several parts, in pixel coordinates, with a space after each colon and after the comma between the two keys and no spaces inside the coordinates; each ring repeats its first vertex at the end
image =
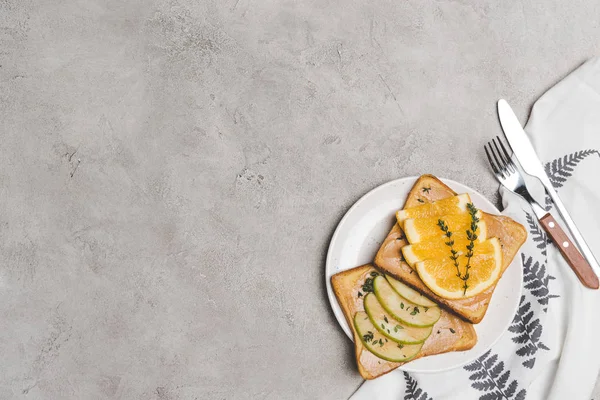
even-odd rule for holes
{"type": "MultiPolygon", "coordinates": [[[[372,263],[375,254],[396,222],[395,213],[417,177],[402,178],[385,183],[364,195],[340,221],[329,245],[325,265],[327,295],[333,312],[346,335],[352,332],[331,288],[331,276],[359,265],[372,263]]],[[[456,193],[469,193],[473,203],[490,214],[500,214],[494,205],[473,189],[449,179],[442,181],[456,193]]],[[[411,361],[400,369],[409,372],[441,372],[473,361],[494,345],[507,330],[521,298],[523,264],[514,258],[494,291],[486,316],[474,325],[478,341],[471,350],[450,352],[411,361]]]]}

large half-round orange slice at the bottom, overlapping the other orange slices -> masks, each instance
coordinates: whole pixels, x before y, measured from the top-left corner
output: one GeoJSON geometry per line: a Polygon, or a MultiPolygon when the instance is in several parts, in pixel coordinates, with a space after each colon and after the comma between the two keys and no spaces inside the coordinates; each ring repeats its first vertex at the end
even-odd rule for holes
{"type": "MultiPolygon", "coordinates": [[[[458,249],[458,247],[455,247],[458,249]]],[[[458,257],[459,271],[465,276],[467,258],[465,254],[458,257]]],[[[457,277],[456,266],[446,257],[436,257],[419,261],[415,269],[421,280],[435,294],[446,299],[462,299],[475,296],[500,278],[502,270],[502,247],[496,238],[488,239],[483,243],[476,243],[473,257],[470,260],[469,277],[465,291],[465,281],[457,277]]]]}

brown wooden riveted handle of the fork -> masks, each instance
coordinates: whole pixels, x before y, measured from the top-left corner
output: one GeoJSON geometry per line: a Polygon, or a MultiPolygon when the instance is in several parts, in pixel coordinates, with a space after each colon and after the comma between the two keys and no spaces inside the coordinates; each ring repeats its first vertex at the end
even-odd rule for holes
{"type": "Polygon", "coordinates": [[[581,283],[585,286],[598,289],[600,283],[598,277],[592,270],[592,267],[581,255],[577,247],[571,242],[565,231],[562,230],[558,222],[550,213],[540,218],[540,224],[544,227],[548,236],[552,238],[558,250],[569,263],[581,283]]]}

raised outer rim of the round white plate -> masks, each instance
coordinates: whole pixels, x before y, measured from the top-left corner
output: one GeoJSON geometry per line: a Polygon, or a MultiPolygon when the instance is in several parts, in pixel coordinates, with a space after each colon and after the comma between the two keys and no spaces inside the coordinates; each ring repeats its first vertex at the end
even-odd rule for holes
{"type": "MultiPolygon", "coordinates": [[[[346,334],[346,336],[348,336],[348,338],[354,342],[354,338],[352,335],[352,330],[350,329],[350,325],[348,323],[348,321],[346,321],[346,317],[343,313],[343,311],[341,310],[341,306],[339,305],[339,302],[337,300],[337,298],[335,297],[335,294],[333,292],[333,287],[331,286],[331,276],[333,276],[334,274],[329,275],[328,272],[331,269],[330,265],[331,265],[331,257],[332,255],[332,247],[334,242],[336,241],[338,235],[340,234],[340,227],[344,224],[344,222],[346,221],[347,218],[349,218],[350,214],[352,213],[352,211],[354,211],[354,209],[366,198],[368,197],[371,193],[373,193],[376,190],[382,189],[386,186],[395,184],[395,183],[399,183],[399,182],[416,182],[421,176],[423,175],[411,175],[411,176],[407,176],[407,177],[403,177],[403,178],[397,178],[397,179],[392,179],[391,181],[382,183],[380,185],[375,186],[374,188],[372,188],[371,190],[369,190],[368,192],[366,192],[364,195],[362,195],[358,200],[356,200],[354,202],[354,204],[352,204],[352,206],[344,213],[344,216],[340,219],[340,221],[338,222],[335,231],[333,233],[333,235],[331,236],[331,239],[329,241],[329,246],[327,247],[327,256],[325,258],[325,285],[327,288],[327,297],[329,299],[329,306],[331,307],[331,310],[333,311],[333,314],[336,317],[336,320],[338,322],[338,325],[340,326],[340,328],[342,328],[342,331],[344,331],[344,333],[346,334]],[[336,310],[336,308],[333,306],[333,304],[337,304],[339,307],[339,310],[336,310]],[[345,324],[342,324],[341,321],[344,321],[345,324]]],[[[479,193],[479,191],[471,188],[470,186],[467,186],[463,183],[460,183],[458,181],[455,181],[453,179],[448,179],[448,178],[442,178],[439,176],[436,176],[437,179],[439,179],[440,181],[442,181],[442,183],[448,185],[448,186],[452,186],[452,184],[456,184],[458,186],[463,186],[468,188],[470,191],[477,193],[479,196],[481,196],[483,199],[485,199],[488,202],[488,205],[491,206],[494,210],[495,213],[497,213],[498,215],[504,215],[500,210],[498,210],[498,208],[484,195],[482,195],[481,193],[479,193]]],[[[523,262],[521,260],[521,257],[517,257],[519,253],[517,253],[515,255],[515,257],[513,258],[511,264],[509,265],[509,267],[513,264],[515,264],[514,267],[518,267],[519,270],[519,277],[520,277],[520,282],[521,284],[519,285],[519,289],[518,289],[518,295],[516,296],[517,298],[521,298],[521,296],[523,295],[523,262]]],[[[357,265],[358,266],[358,265],[357,265]]],[[[355,266],[355,267],[357,267],[355,266]]],[[[347,268],[338,272],[342,272],[342,271],[346,271],[348,269],[352,269],[355,267],[351,267],[351,268],[347,268]]],[[[513,268],[514,268],[513,267],[513,268]]],[[[507,267],[508,268],[508,267],[507,267]]],[[[502,279],[502,278],[500,278],[502,279]]],[[[512,310],[512,314],[514,315],[517,310],[519,308],[519,302],[515,302],[515,306],[513,307],[512,310]]],[[[474,324],[476,325],[476,324],[474,324]]],[[[510,325],[510,322],[509,322],[510,325]]],[[[508,325],[507,325],[508,327],[508,325]]],[[[486,346],[484,349],[481,350],[480,353],[474,355],[473,357],[467,359],[466,361],[461,361],[460,363],[457,363],[453,366],[450,367],[445,367],[445,368],[439,368],[439,369],[435,369],[435,370],[419,370],[419,369],[413,369],[410,368],[410,363],[404,364],[399,366],[398,368],[396,368],[396,370],[402,370],[402,371],[406,371],[406,372],[414,372],[414,373],[425,373],[425,374],[433,374],[433,373],[440,373],[440,372],[445,372],[445,371],[451,371],[454,370],[456,368],[460,368],[465,364],[468,364],[470,362],[473,362],[475,359],[477,359],[478,357],[480,357],[482,354],[484,354],[485,352],[487,352],[488,350],[490,350],[494,345],[496,345],[496,343],[498,343],[498,341],[500,340],[500,338],[502,338],[504,336],[504,334],[506,333],[506,331],[508,330],[506,328],[504,328],[504,330],[502,331],[502,333],[500,335],[498,335],[488,346],[486,346]]],[[[466,350],[469,351],[469,350],[466,350]]],[[[434,357],[435,355],[432,355],[431,357],[434,357]]],[[[390,371],[391,372],[391,371],[390,371]]]]}

